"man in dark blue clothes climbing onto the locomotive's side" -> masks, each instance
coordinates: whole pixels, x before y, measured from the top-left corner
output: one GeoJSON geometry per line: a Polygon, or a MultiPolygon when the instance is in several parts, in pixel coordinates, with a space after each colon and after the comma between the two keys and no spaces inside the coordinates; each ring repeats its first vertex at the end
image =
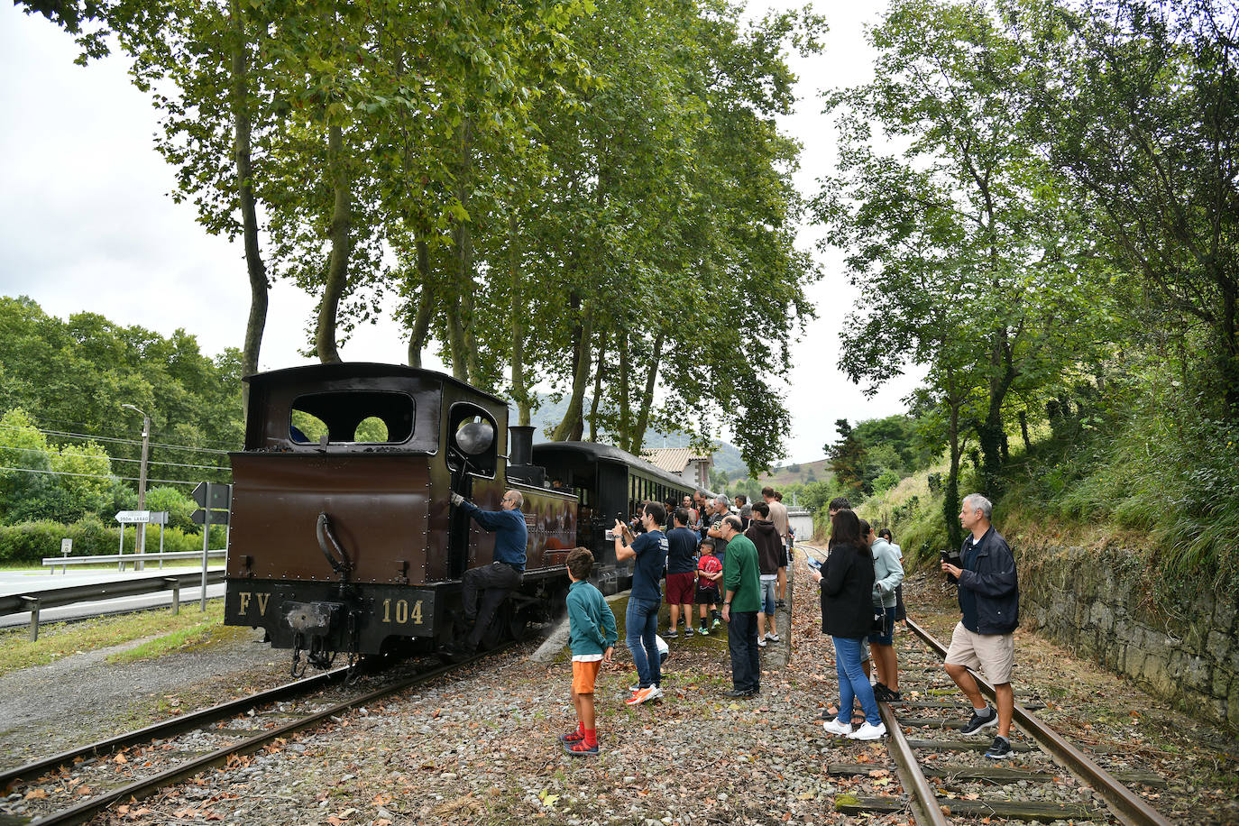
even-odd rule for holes
{"type": "Polygon", "coordinates": [[[447,654],[470,656],[477,650],[499,606],[524,580],[529,528],[525,515],[520,513],[524,497],[519,490],[503,494],[502,510],[482,510],[458,493],[452,493],[452,504],[472,516],[483,530],[494,534],[494,562],[470,568],[461,577],[465,622],[472,623],[473,628],[462,644],[446,648],[447,654]]]}

